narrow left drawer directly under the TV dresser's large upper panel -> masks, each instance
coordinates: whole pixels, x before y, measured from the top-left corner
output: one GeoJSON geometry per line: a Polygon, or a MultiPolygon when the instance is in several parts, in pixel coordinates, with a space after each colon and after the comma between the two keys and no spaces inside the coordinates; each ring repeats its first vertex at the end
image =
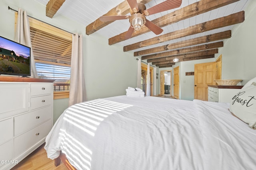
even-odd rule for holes
{"type": "Polygon", "coordinates": [[[0,121],[0,145],[13,138],[13,118],[0,121]]]}

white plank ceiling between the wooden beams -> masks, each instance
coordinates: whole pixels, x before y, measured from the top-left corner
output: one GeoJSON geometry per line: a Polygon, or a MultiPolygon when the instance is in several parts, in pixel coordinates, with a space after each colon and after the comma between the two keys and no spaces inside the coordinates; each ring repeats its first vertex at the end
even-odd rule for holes
{"type": "MultiPolygon", "coordinates": [[[[49,0],[36,0],[36,1],[46,5],[49,0]]],[[[84,25],[84,28],[86,28],[87,25],[89,25],[90,23],[92,23],[93,21],[98,19],[100,16],[106,14],[109,10],[111,10],[112,8],[114,8],[115,6],[117,6],[118,4],[120,4],[123,1],[124,0],[66,0],[55,15],[62,15],[71,20],[75,20],[75,21],[79,22],[80,24],[84,25]]],[[[145,5],[146,5],[146,8],[148,9],[148,8],[155,6],[156,4],[159,4],[160,2],[163,2],[163,1],[164,0],[152,0],[148,4],[145,4],[145,5]]],[[[173,12],[177,9],[183,8],[185,6],[188,6],[188,5],[198,2],[198,1],[200,1],[200,0],[182,0],[182,4],[179,8],[175,8],[172,10],[168,10],[165,12],[147,16],[147,19],[152,21],[156,18],[164,16],[170,12],[173,12]]],[[[238,2],[234,2],[227,6],[217,8],[216,10],[212,10],[212,11],[206,12],[204,14],[200,14],[200,15],[194,16],[192,18],[188,18],[186,20],[178,21],[178,22],[168,25],[166,27],[162,27],[162,29],[164,29],[164,31],[160,35],[163,35],[163,34],[166,34],[166,33],[172,32],[172,31],[176,31],[178,29],[184,29],[186,27],[190,27],[192,25],[196,25],[196,24],[199,24],[199,23],[202,23],[205,21],[214,20],[216,18],[221,18],[223,16],[228,16],[228,15],[234,14],[236,12],[240,12],[240,11],[244,10],[244,8],[246,8],[246,5],[249,3],[249,1],[250,0],[239,0],[238,2]]],[[[130,15],[130,13],[128,15],[130,15]]],[[[118,21],[114,21],[113,23],[110,23],[106,27],[103,27],[102,29],[100,29],[96,32],[98,34],[106,37],[106,39],[109,39],[110,37],[114,37],[115,35],[118,35],[120,33],[127,31],[128,28],[129,28],[128,20],[118,20],[118,21]]],[[[174,39],[172,41],[166,41],[164,43],[158,43],[156,45],[143,47],[143,48],[140,48],[139,50],[137,49],[134,51],[140,51],[140,50],[149,49],[152,47],[158,47],[161,45],[175,43],[178,41],[193,39],[193,38],[201,37],[204,35],[227,31],[227,30],[230,30],[231,28],[232,28],[232,26],[222,27],[219,29],[214,29],[212,31],[206,31],[203,33],[198,33],[196,35],[190,35],[187,37],[174,39]]],[[[84,31],[84,34],[85,34],[85,31],[84,31]]],[[[143,40],[146,40],[146,39],[149,39],[152,37],[156,37],[156,35],[152,31],[150,31],[143,35],[133,37],[126,41],[122,41],[119,44],[122,46],[126,46],[126,45],[137,43],[139,41],[143,41],[143,40]]]]}

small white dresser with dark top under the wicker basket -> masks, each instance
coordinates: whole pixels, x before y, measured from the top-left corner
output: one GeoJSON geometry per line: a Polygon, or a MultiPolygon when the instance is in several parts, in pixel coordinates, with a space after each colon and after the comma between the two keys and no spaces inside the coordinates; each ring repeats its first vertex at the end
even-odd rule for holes
{"type": "Polygon", "coordinates": [[[208,85],[208,101],[230,103],[231,99],[241,90],[242,87],[243,86],[208,85]]]}

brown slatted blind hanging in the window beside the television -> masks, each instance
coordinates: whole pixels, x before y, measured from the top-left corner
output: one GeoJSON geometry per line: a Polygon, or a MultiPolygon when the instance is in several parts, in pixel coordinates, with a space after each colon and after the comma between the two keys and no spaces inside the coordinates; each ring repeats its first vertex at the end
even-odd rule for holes
{"type": "Polygon", "coordinates": [[[38,78],[55,79],[54,91],[70,89],[72,41],[30,27],[38,78]]]}

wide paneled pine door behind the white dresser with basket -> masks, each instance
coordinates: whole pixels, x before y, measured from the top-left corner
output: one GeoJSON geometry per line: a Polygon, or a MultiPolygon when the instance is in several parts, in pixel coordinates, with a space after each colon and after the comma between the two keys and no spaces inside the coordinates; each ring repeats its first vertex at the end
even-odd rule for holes
{"type": "Polygon", "coordinates": [[[194,99],[208,101],[208,84],[215,84],[216,62],[195,64],[194,99]]]}

